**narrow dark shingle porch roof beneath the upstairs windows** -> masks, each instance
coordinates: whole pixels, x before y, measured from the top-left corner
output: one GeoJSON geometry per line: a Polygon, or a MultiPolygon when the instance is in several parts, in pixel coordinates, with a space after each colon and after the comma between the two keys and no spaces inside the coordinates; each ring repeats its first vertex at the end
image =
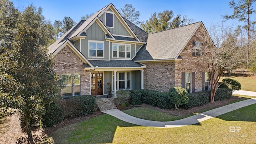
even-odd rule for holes
{"type": "Polygon", "coordinates": [[[141,67],[142,65],[132,60],[89,60],[94,66],[100,67],[141,67]]]}

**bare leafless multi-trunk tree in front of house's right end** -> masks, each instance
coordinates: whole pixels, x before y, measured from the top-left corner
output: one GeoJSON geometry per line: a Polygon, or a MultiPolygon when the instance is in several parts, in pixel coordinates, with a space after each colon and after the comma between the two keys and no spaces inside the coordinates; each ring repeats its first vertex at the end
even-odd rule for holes
{"type": "Polygon", "coordinates": [[[206,63],[210,73],[210,102],[214,102],[214,96],[218,88],[220,77],[226,70],[232,70],[244,62],[244,44],[240,46],[238,38],[234,36],[233,29],[222,25],[212,24],[209,33],[204,27],[195,34],[200,40],[200,46],[192,46],[197,53],[198,61],[206,63]]]}

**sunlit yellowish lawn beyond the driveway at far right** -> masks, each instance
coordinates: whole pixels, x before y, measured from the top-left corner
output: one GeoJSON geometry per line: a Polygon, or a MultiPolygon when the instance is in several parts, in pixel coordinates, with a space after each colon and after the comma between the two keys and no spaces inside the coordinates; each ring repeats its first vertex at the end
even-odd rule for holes
{"type": "Polygon", "coordinates": [[[256,92],[256,78],[244,77],[244,76],[230,76],[230,77],[221,77],[220,81],[222,81],[222,79],[224,78],[231,78],[240,82],[241,90],[256,92]]]}

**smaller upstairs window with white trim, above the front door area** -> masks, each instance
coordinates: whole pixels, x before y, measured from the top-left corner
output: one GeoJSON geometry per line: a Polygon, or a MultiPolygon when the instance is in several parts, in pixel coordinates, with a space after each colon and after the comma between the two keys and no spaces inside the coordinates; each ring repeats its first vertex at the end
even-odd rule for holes
{"type": "Polygon", "coordinates": [[[104,58],[104,42],[89,40],[89,57],[104,58]]]}

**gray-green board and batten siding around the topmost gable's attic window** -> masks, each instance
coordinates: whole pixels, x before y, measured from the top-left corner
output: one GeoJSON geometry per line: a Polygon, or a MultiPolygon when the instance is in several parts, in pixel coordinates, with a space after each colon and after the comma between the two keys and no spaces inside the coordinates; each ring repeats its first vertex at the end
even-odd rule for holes
{"type": "MultiPolygon", "coordinates": [[[[102,23],[106,26],[106,12],[102,14],[99,18],[102,23]]],[[[108,28],[108,27],[107,27],[108,28]]],[[[124,25],[118,20],[116,14],[114,14],[114,28],[108,28],[111,34],[122,35],[122,36],[131,36],[129,32],[126,30],[124,25]]]]}

